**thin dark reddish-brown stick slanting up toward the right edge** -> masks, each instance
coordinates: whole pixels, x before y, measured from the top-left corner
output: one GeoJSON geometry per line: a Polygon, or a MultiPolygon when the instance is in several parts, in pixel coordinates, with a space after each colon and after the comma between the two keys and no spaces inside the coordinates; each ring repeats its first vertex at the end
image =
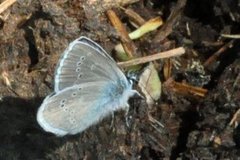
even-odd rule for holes
{"type": "Polygon", "coordinates": [[[214,62],[225,50],[230,48],[233,44],[234,40],[231,40],[227,44],[225,44],[223,47],[221,47],[217,52],[215,52],[211,57],[209,57],[203,64],[204,67],[207,67],[212,62],[214,62]]]}

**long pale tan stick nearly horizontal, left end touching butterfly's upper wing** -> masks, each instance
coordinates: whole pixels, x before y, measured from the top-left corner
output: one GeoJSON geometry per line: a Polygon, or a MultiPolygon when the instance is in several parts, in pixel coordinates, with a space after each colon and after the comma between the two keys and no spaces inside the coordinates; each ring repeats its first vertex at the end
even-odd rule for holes
{"type": "Polygon", "coordinates": [[[158,59],[180,56],[184,53],[185,53],[185,49],[183,47],[179,47],[179,48],[175,48],[175,49],[172,49],[172,50],[169,50],[169,51],[156,53],[156,54],[153,54],[153,55],[150,55],[150,56],[135,58],[135,59],[125,61],[125,62],[119,62],[117,64],[120,67],[128,67],[128,66],[134,66],[134,65],[137,65],[137,64],[143,64],[143,63],[151,62],[151,61],[158,60],[158,59]]]}

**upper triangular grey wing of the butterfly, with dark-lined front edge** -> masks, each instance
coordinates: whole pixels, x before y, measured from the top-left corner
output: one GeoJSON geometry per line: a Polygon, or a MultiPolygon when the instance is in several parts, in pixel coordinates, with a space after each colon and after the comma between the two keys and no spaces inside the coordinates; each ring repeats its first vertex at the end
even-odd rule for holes
{"type": "Polygon", "coordinates": [[[64,51],[55,73],[55,92],[76,84],[116,81],[126,77],[98,44],[86,37],[73,41],[64,51]]]}

